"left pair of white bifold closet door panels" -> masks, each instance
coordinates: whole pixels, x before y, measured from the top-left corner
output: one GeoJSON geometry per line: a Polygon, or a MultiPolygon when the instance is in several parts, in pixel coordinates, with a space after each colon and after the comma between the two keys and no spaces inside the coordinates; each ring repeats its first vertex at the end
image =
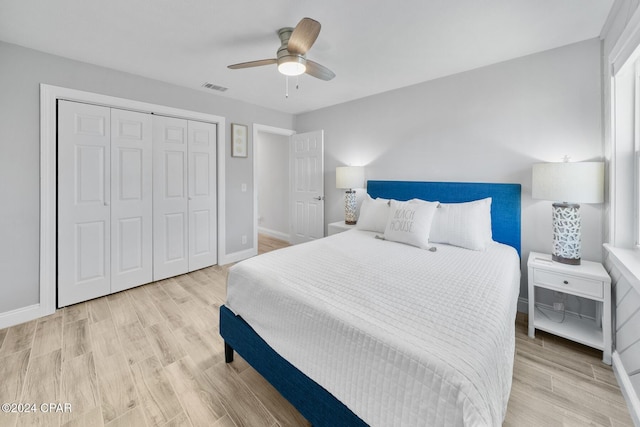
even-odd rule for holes
{"type": "Polygon", "coordinates": [[[58,103],[58,306],[152,280],[149,114],[58,103]]]}

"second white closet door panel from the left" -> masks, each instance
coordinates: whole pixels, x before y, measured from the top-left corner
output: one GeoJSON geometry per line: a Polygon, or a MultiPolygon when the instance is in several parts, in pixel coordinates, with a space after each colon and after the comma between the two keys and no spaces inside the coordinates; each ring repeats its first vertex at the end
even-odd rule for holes
{"type": "Polygon", "coordinates": [[[151,115],[111,110],[111,292],[153,280],[151,115]]]}

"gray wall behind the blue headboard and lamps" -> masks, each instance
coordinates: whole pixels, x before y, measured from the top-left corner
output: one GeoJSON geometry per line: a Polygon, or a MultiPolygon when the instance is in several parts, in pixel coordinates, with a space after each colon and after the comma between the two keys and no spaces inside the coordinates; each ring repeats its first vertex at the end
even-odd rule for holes
{"type": "MultiPolygon", "coordinates": [[[[325,130],[327,222],[343,217],[343,164],[365,165],[367,179],[520,183],[526,271],[530,251],[551,250],[551,202],[531,199],[532,164],[602,158],[600,69],[593,39],[296,116],[299,132],[325,130]]],[[[583,258],[599,261],[602,208],[581,211],[583,258]]]]}

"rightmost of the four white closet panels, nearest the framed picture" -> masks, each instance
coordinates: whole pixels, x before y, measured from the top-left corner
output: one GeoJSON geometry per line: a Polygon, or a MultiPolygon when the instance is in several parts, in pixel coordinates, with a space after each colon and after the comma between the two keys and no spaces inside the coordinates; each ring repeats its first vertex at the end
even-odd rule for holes
{"type": "Polygon", "coordinates": [[[218,262],[216,139],[215,124],[189,121],[189,271],[218,262]]]}

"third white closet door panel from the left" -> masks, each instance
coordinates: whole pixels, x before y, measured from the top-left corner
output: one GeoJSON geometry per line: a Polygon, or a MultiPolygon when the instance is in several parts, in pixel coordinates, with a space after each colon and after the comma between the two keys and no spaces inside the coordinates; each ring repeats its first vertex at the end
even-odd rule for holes
{"type": "Polygon", "coordinates": [[[187,121],[153,116],[153,280],[189,271],[187,121]]]}

